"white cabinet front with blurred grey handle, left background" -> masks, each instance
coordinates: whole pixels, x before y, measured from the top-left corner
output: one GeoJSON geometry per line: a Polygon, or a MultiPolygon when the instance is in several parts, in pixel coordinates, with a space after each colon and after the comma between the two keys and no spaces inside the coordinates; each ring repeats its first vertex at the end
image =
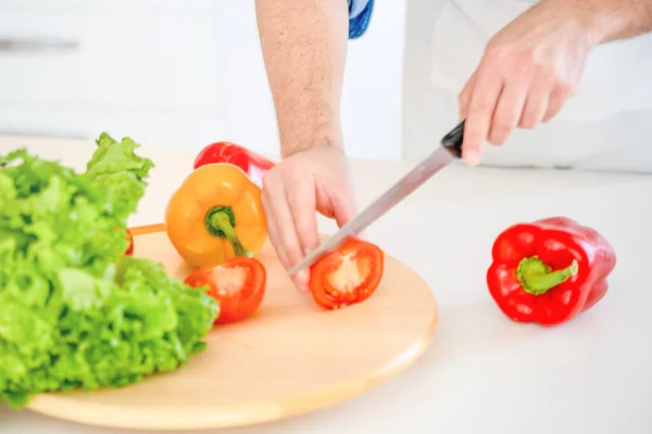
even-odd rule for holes
{"type": "Polygon", "coordinates": [[[224,135],[221,3],[134,3],[1,1],[0,39],[17,43],[0,51],[2,130],[162,145],[224,135]],[[39,49],[52,42],[67,46],[39,49]]]}

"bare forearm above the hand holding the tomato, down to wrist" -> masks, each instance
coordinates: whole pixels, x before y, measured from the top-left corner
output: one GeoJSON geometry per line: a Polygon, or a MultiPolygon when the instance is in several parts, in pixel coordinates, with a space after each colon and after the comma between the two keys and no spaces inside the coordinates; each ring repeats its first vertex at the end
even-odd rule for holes
{"type": "Polygon", "coordinates": [[[281,152],[341,145],[340,98],[348,40],[346,0],[256,0],[263,59],[281,152]]]}

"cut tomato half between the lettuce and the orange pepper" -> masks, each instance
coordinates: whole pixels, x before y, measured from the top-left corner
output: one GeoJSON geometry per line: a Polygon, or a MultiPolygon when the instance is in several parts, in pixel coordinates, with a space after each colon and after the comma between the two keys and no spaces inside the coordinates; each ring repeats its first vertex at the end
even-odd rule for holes
{"type": "Polygon", "coordinates": [[[265,296],[265,267],[255,258],[236,256],[214,268],[199,268],[185,280],[192,288],[206,288],[220,303],[216,324],[251,316],[265,296]]]}

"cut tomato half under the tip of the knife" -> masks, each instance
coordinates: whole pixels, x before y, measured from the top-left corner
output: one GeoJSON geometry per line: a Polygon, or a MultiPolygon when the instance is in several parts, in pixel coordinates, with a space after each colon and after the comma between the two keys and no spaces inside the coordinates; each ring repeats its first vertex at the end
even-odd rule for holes
{"type": "Polygon", "coordinates": [[[327,309],[362,303],[378,288],[384,260],[385,254],[378,246],[351,239],[311,267],[311,294],[327,309]]]}

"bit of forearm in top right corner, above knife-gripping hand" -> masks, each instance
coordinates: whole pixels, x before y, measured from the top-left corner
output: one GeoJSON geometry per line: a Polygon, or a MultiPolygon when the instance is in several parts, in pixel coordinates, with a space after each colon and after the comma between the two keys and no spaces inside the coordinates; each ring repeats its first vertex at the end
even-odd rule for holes
{"type": "Polygon", "coordinates": [[[652,31],[652,0],[549,0],[572,5],[593,33],[595,43],[652,31]]]}

